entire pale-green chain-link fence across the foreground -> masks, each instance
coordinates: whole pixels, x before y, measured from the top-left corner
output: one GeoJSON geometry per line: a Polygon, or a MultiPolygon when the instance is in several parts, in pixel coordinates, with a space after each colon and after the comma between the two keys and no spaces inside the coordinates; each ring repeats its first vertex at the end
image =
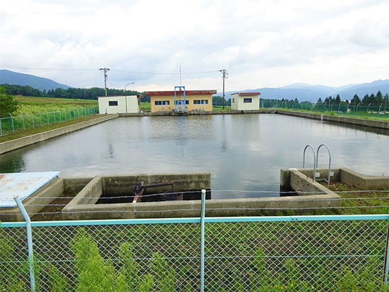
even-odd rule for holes
{"type": "MultiPolygon", "coordinates": [[[[32,222],[35,288],[200,291],[203,280],[204,291],[380,291],[388,220],[207,217],[203,237],[200,218],[32,222]]],[[[0,288],[28,290],[26,223],[0,232],[0,288]]]]}

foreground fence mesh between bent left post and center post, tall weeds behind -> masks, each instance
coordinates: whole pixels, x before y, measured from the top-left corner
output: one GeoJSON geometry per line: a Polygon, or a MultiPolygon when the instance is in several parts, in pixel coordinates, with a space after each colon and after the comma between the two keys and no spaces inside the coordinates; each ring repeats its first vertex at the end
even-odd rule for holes
{"type": "Polygon", "coordinates": [[[34,227],[33,237],[36,285],[44,291],[84,290],[102,274],[101,282],[121,291],[199,289],[198,224],[34,227]]]}

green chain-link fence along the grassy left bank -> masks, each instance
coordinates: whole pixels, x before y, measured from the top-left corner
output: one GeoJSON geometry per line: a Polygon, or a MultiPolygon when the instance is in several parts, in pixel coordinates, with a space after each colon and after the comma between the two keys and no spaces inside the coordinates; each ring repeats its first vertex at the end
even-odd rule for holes
{"type": "Polygon", "coordinates": [[[99,112],[99,107],[77,107],[64,110],[39,112],[30,114],[8,114],[6,117],[0,117],[0,136],[12,133],[14,131],[33,129],[46,124],[54,124],[59,121],[67,121],[79,117],[85,117],[89,114],[99,112]]]}

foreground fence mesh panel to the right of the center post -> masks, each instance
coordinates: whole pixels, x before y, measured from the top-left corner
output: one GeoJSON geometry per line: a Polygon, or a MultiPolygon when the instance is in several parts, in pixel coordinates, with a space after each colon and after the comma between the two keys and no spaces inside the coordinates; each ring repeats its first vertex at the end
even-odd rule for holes
{"type": "Polygon", "coordinates": [[[206,291],[383,286],[386,221],[223,222],[206,228],[206,291]]]}

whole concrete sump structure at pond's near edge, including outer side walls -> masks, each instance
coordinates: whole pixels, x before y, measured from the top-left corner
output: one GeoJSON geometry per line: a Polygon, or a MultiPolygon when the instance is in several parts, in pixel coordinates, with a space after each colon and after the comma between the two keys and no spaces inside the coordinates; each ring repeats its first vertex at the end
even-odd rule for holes
{"type": "MultiPolygon", "coordinates": [[[[317,179],[327,178],[327,168],[317,168],[317,179]]],[[[333,168],[332,182],[341,182],[363,190],[389,188],[388,176],[361,175],[347,168],[333,168]]],[[[280,171],[280,186],[295,190],[297,195],[270,198],[239,198],[207,200],[207,217],[276,215],[280,210],[303,213],[317,208],[341,207],[341,197],[324,185],[312,180],[313,168],[287,168],[280,171]],[[265,213],[264,213],[265,212],[265,213]]],[[[201,190],[211,199],[211,173],[107,175],[94,178],[57,177],[23,200],[32,216],[61,196],[74,197],[62,208],[62,220],[143,219],[159,217],[199,217],[201,190]],[[150,189],[145,200],[133,203],[117,199],[132,198],[131,187],[143,182],[174,182],[175,192],[182,192],[184,200],[160,201],[158,196],[171,191],[170,185],[150,189]],[[76,195],[77,194],[77,195],[76,195]],[[148,194],[157,194],[150,201],[148,194]],[[106,202],[102,203],[102,198],[106,202]],[[194,200],[197,199],[197,200],[194,200]],[[113,202],[110,202],[113,200],[113,202]],[[116,201],[115,201],[116,200],[116,201]]],[[[1,221],[23,221],[18,207],[1,208],[1,221]]]]}

